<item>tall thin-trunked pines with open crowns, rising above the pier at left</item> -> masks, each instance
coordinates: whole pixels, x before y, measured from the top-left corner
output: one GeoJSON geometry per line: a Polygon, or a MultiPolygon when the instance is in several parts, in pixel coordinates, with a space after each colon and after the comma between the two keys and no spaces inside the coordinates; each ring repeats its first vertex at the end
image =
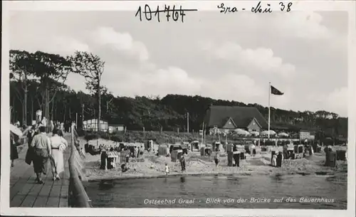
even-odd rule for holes
{"type": "MultiPolygon", "coordinates": [[[[41,51],[30,53],[11,50],[9,65],[11,116],[21,118],[23,125],[31,124],[33,112],[37,109],[43,111],[43,117],[47,120],[53,120],[54,110],[58,107],[57,94],[68,90],[64,83],[69,73],[83,75],[86,88],[97,97],[98,117],[100,117],[100,80],[105,62],[100,60],[98,55],[76,51],[73,55],[63,57],[41,51]],[[31,103],[28,103],[28,98],[31,103]],[[16,105],[16,101],[21,106],[16,105]],[[31,105],[31,112],[28,112],[29,105],[31,105]]],[[[98,129],[100,129],[99,122],[98,129]]]]}

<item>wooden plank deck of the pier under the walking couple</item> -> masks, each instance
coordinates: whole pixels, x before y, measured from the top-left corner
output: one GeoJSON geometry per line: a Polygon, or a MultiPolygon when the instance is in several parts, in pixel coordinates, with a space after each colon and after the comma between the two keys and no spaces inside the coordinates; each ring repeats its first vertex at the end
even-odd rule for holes
{"type": "Polygon", "coordinates": [[[10,207],[68,207],[70,144],[64,153],[65,171],[61,180],[53,181],[51,166],[48,162],[44,184],[36,184],[33,164],[25,162],[27,145],[19,153],[19,159],[11,167],[10,207]]]}

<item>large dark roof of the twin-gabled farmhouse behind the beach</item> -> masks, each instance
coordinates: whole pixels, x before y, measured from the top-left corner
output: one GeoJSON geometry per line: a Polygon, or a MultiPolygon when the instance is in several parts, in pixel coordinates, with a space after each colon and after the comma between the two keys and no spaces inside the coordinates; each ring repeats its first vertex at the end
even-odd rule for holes
{"type": "Polygon", "coordinates": [[[238,128],[247,127],[253,120],[253,117],[256,118],[262,128],[268,128],[268,123],[256,107],[211,105],[206,113],[205,121],[208,127],[223,127],[226,121],[229,120],[229,117],[231,117],[238,128]]]}

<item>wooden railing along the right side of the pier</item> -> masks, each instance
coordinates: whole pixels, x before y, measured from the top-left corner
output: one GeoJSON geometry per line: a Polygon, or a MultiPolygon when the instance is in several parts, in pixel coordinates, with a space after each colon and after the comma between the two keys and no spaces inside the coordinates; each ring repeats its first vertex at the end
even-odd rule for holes
{"type": "Polygon", "coordinates": [[[83,160],[80,157],[77,147],[75,146],[75,128],[72,126],[70,138],[70,157],[69,164],[69,196],[68,206],[70,207],[91,207],[90,200],[85,192],[82,180],[85,178],[80,176],[80,171],[83,169],[83,160]]]}

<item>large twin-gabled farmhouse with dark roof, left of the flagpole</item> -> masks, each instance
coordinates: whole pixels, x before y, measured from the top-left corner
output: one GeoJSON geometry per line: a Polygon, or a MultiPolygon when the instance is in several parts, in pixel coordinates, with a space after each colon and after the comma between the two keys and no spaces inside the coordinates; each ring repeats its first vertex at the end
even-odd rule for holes
{"type": "Polygon", "coordinates": [[[256,107],[211,105],[206,111],[204,121],[207,129],[219,129],[220,132],[233,131],[236,128],[248,132],[268,129],[268,123],[256,107]]]}

